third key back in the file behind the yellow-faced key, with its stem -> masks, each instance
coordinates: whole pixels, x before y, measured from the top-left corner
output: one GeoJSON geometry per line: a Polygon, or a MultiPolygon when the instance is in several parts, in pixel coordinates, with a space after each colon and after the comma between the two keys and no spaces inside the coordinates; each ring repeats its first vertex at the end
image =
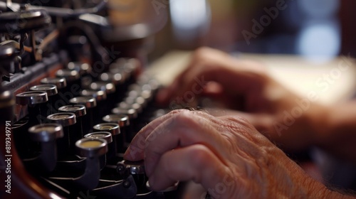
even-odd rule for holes
{"type": "Polygon", "coordinates": [[[113,158],[117,153],[123,151],[122,136],[120,136],[120,127],[115,123],[97,124],[93,127],[95,132],[108,131],[112,136],[112,143],[108,144],[108,158],[113,158]]]}

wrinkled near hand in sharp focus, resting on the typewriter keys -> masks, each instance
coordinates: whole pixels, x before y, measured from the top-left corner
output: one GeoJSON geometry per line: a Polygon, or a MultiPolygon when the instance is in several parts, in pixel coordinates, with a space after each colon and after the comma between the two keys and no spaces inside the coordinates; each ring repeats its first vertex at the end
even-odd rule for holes
{"type": "Polygon", "coordinates": [[[323,198],[331,193],[237,116],[174,110],[147,124],[124,158],[145,159],[153,190],[194,181],[213,198],[323,198]]]}

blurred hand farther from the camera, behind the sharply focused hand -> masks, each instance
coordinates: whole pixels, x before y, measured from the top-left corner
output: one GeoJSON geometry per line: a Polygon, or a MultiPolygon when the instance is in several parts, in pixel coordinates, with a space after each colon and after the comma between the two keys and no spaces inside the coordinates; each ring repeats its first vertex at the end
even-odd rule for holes
{"type": "Polygon", "coordinates": [[[267,75],[261,63],[239,60],[220,50],[197,50],[187,69],[158,93],[157,102],[177,109],[201,96],[239,111],[284,149],[315,144],[315,129],[323,127],[323,107],[287,90],[267,75]]]}

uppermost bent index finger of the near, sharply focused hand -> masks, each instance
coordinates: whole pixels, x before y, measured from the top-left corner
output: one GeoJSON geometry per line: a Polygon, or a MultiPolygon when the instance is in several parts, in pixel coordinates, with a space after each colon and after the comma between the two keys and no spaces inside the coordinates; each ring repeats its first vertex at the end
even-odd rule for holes
{"type": "MultiPolygon", "coordinates": [[[[147,136],[145,148],[145,168],[147,175],[152,173],[160,156],[167,151],[192,144],[204,144],[216,154],[226,156],[226,141],[206,118],[194,112],[179,112],[167,119],[147,136]]],[[[221,157],[221,160],[224,161],[221,157]]]]}

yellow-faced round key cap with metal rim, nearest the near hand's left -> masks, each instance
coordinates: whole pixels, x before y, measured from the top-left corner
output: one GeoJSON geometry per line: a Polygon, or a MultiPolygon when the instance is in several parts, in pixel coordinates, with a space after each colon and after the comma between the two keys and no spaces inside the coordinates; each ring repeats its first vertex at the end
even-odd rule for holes
{"type": "Polygon", "coordinates": [[[108,144],[104,139],[83,138],[75,142],[79,156],[93,158],[108,152],[108,144]]]}

